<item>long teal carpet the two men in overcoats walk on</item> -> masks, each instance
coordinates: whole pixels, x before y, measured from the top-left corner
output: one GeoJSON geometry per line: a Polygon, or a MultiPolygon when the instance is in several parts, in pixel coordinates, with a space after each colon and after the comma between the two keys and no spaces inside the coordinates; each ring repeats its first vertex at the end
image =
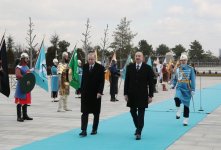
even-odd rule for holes
{"type": "Polygon", "coordinates": [[[193,112],[191,102],[187,127],[182,126],[182,117],[175,119],[173,99],[151,105],[145,114],[145,126],[140,141],[136,141],[133,135],[135,128],[130,114],[124,113],[101,121],[97,135],[89,134],[89,126],[88,136],[85,138],[78,136],[80,129],[73,129],[18,147],[16,150],[163,150],[204,119],[207,113],[221,105],[220,91],[221,85],[201,90],[204,109],[202,112],[198,111],[200,93],[196,92],[196,112],[193,112]]]}

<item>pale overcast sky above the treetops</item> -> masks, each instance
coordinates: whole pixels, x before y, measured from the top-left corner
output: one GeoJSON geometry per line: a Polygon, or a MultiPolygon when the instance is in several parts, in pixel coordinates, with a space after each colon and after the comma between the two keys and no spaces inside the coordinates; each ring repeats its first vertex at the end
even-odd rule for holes
{"type": "Polygon", "coordinates": [[[28,18],[34,23],[36,42],[50,46],[51,35],[71,43],[70,49],[82,47],[82,32],[90,19],[92,46],[101,43],[106,25],[109,42],[123,17],[131,20],[131,30],[138,33],[135,46],[142,39],[153,48],[166,44],[186,49],[198,40],[205,51],[218,56],[221,48],[221,0],[0,0],[0,35],[12,35],[15,43],[26,46],[28,18]]]}

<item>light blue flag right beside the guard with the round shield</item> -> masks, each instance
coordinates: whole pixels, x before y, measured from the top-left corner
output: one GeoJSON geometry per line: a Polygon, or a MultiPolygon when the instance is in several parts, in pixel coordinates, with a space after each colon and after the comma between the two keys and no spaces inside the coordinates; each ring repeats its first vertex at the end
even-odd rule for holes
{"type": "Polygon", "coordinates": [[[40,47],[40,52],[38,54],[38,59],[36,61],[33,73],[35,75],[36,84],[44,90],[48,91],[47,66],[43,41],[40,47]]]}

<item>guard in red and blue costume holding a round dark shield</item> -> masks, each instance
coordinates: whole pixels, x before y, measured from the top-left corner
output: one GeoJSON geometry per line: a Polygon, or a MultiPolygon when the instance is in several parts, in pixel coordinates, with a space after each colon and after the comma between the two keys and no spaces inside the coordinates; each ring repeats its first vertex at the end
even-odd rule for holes
{"type": "Polygon", "coordinates": [[[17,121],[33,120],[27,114],[27,105],[31,104],[30,91],[34,88],[35,77],[27,66],[29,56],[22,53],[20,63],[16,66],[15,75],[18,80],[15,91],[15,103],[17,104],[17,121]]]}

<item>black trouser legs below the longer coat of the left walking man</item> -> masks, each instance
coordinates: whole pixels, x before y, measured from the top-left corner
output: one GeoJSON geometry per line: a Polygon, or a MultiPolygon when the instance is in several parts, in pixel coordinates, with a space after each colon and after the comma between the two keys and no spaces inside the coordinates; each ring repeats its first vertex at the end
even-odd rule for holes
{"type": "MultiPolygon", "coordinates": [[[[83,113],[81,115],[81,130],[87,131],[88,115],[89,115],[89,113],[83,113]]],[[[97,131],[100,113],[93,113],[93,115],[94,115],[94,121],[93,121],[92,130],[97,131]]]]}

